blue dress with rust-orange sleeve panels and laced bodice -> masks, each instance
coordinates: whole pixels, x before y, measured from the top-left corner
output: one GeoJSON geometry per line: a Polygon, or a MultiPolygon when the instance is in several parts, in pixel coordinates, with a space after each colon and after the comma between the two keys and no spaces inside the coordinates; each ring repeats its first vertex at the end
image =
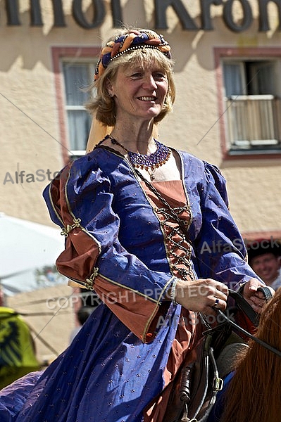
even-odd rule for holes
{"type": "Polygon", "coordinates": [[[65,234],[57,266],[102,303],[43,373],[0,392],[1,422],[162,422],[173,378],[200,335],[173,305],[175,276],[237,289],[256,274],[228,210],[219,170],[188,153],[182,180],[152,182],[186,234],[123,155],[99,147],[44,191],[65,234]]]}

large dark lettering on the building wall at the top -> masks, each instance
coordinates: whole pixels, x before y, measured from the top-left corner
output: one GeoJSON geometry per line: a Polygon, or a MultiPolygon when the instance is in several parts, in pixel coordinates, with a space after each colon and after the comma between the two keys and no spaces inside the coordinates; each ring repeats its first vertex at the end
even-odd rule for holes
{"type": "MultiPolygon", "coordinates": [[[[22,25],[20,23],[19,13],[20,0],[6,0],[6,15],[7,25],[15,26],[22,25]]],[[[87,19],[82,8],[83,0],[73,0],[72,15],[80,27],[86,30],[92,30],[99,27],[106,18],[106,5],[104,0],[92,0],[93,18],[91,21],[87,19]]],[[[180,20],[182,30],[187,31],[212,31],[213,23],[211,18],[211,6],[223,6],[222,19],[225,25],[232,32],[242,32],[247,30],[253,23],[253,11],[248,0],[199,0],[201,7],[201,25],[196,23],[189,15],[188,4],[189,0],[151,0],[154,1],[154,25],[156,30],[168,29],[167,24],[167,9],[173,8],[173,11],[180,20]],[[242,19],[235,20],[235,3],[239,3],[242,10],[242,19]]],[[[259,12],[259,32],[266,32],[270,30],[268,19],[268,3],[273,2],[277,6],[279,23],[277,30],[281,30],[281,0],[256,0],[259,12]]],[[[54,27],[65,27],[65,16],[63,13],[63,0],[52,0],[54,27]]],[[[111,14],[113,20],[113,27],[123,26],[123,11],[120,0],[111,0],[111,14]]],[[[30,25],[42,26],[42,10],[40,0],[30,0],[30,25]]]]}

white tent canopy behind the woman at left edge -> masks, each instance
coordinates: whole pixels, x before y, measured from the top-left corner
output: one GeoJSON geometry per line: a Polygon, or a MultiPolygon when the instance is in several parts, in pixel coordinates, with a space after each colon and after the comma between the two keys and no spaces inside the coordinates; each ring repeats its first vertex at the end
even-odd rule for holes
{"type": "Polygon", "coordinates": [[[60,229],[0,212],[0,233],[0,283],[4,293],[11,295],[65,281],[51,270],[64,249],[60,229]]]}

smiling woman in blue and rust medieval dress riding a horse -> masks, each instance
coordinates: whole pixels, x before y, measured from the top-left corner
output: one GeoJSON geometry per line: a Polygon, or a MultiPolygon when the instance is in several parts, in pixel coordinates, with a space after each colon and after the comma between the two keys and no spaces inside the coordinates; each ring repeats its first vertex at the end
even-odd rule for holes
{"type": "Polygon", "coordinates": [[[17,415],[12,389],[0,393],[1,422],[9,412],[13,422],[163,422],[175,376],[201,336],[198,313],[224,310],[228,286],[258,312],[264,304],[246,250],[232,244],[241,235],[222,174],[173,148],[168,133],[172,146],[154,138],[175,100],[168,42],[152,30],[118,30],[93,88],[88,109],[113,130],[44,198],[65,234],[59,271],[102,303],[17,415]],[[216,248],[221,242],[227,248],[216,248]]]}

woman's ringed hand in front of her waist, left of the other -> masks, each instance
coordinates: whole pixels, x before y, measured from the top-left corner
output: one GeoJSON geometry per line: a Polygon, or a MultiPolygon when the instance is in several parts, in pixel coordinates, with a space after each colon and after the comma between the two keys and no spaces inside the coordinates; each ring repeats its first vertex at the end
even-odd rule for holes
{"type": "Polygon", "coordinates": [[[186,309],[216,315],[218,308],[226,308],[228,288],[225,284],[213,279],[198,279],[194,281],[178,280],[175,286],[175,300],[186,309]]]}

